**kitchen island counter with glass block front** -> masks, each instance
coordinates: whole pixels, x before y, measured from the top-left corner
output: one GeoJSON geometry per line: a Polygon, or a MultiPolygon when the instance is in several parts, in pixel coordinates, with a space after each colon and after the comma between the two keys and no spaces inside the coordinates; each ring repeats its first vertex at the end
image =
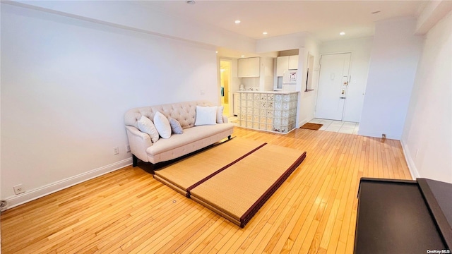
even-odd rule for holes
{"type": "Polygon", "coordinates": [[[297,120],[298,92],[239,91],[239,126],[288,133],[297,120]]]}

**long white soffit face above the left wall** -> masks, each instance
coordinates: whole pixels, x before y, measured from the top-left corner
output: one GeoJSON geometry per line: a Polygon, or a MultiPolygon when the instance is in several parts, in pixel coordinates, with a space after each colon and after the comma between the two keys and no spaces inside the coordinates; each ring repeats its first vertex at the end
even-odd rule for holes
{"type": "Polygon", "coordinates": [[[8,4],[243,52],[256,50],[254,39],[196,20],[186,22],[171,13],[163,13],[152,1],[8,1],[8,4]]]}

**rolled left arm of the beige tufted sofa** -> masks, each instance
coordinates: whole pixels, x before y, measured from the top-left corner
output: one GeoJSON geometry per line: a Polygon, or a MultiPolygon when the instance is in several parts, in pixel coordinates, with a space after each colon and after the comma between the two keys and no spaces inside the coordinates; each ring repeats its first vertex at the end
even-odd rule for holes
{"type": "Polygon", "coordinates": [[[148,154],[146,153],[146,149],[153,145],[150,140],[150,136],[147,133],[142,133],[133,126],[126,126],[126,132],[132,155],[135,155],[143,162],[148,162],[148,154]]]}

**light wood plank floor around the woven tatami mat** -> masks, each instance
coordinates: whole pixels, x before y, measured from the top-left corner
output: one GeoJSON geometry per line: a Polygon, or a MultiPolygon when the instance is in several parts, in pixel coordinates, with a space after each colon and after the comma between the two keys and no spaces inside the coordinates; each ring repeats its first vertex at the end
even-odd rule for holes
{"type": "Polygon", "coordinates": [[[3,212],[1,252],[352,253],[359,178],[410,179],[397,140],[304,129],[234,135],[307,151],[244,229],[141,163],[3,212]]]}

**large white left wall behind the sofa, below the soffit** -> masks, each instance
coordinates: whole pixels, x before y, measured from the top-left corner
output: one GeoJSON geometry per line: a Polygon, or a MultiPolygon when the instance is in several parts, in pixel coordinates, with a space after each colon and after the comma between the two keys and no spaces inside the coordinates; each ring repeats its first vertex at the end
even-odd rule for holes
{"type": "Polygon", "coordinates": [[[130,164],[126,110],[218,101],[214,47],[3,3],[1,60],[1,199],[13,204],[130,164]]]}

